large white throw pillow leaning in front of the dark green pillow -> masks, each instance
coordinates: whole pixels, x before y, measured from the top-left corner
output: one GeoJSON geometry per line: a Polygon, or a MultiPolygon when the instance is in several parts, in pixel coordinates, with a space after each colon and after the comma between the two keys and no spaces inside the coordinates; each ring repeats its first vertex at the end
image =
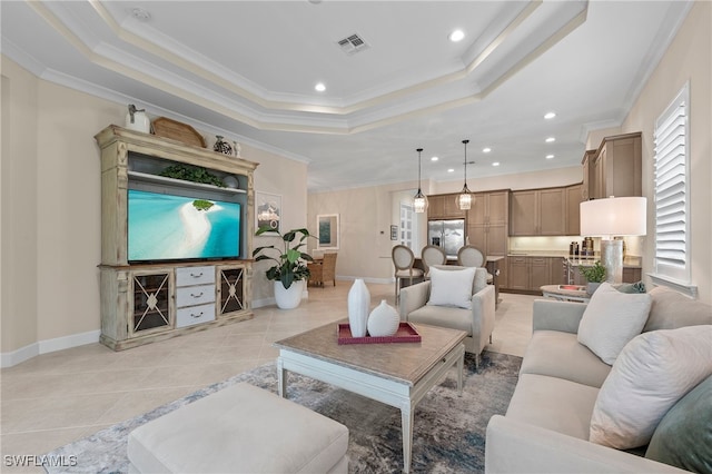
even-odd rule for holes
{"type": "Polygon", "coordinates": [[[590,441],[616,450],[650,443],[665,413],[710,374],[712,325],[641,334],[601,386],[590,441]]]}

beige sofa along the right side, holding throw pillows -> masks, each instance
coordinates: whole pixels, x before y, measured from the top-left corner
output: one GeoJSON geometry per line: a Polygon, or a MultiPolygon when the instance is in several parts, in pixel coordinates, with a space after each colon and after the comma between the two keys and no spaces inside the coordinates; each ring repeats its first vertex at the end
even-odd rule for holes
{"type": "MultiPolygon", "coordinates": [[[[660,337],[670,333],[680,332],[696,333],[698,343],[703,343],[709,337],[712,327],[712,307],[691,300],[671,289],[654,288],[649,293],[650,310],[644,319],[643,335],[631,339],[620,353],[629,356],[640,340],[650,339],[650,336],[660,337]],[[698,326],[703,325],[703,326],[698,326]],[[694,329],[678,329],[685,326],[695,326],[694,329]],[[663,332],[655,332],[665,329],[663,332]],[[668,329],[675,329],[674,332],[668,329]],[[704,329],[704,330],[703,330],[704,329]],[[646,333],[650,333],[646,335],[646,333]]],[[[537,299],[534,303],[533,335],[527,346],[522,363],[520,379],[506,412],[506,416],[494,416],[490,421],[486,434],[485,472],[487,473],[654,473],[654,472],[683,472],[673,465],[652,461],[652,458],[668,460],[678,456],[676,464],[688,468],[690,464],[706,463],[706,470],[712,468],[712,448],[702,447],[702,453],[693,453],[700,444],[710,443],[712,440],[712,371],[709,366],[712,361],[712,349],[706,353],[702,345],[701,357],[695,356],[696,365],[701,363],[700,371],[710,371],[702,381],[695,385],[694,391],[683,394],[683,397],[671,404],[683,405],[696,403],[694,409],[696,421],[681,422],[668,421],[666,417],[681,417],[680,413],[691,412],[688,406],[665,411],[665,415],[653,428],[655,433],[650,442],[650,448],[642,446],[636,450],[620,450],[596,444],[590,441],[592,431],[592,415],[596,407],[599,394],[606,378],[619,376],[619,361],[612,365],[604,363],[596,354],[578,342],[577,332],[580,323],[586,309],[585,304],[557,302],[553,299],[537,299]],[[704,368],[708,364],[708,368],[704,368]],[[692,401],[690,399],[692,398],[692,401]],[[702,408],[700,408],[702,407],[702,408]],[[673,413],[674,412],[674,413],[673,413]],[[690,452],[682,454],[661,454],[664,443],[675,444],[684,436],[672,434],[672,441],[665,441],[663,436],[670,436],[668,426],[681,423],[701,423],[702,433],[694,434],[692,429],[683,429],[684,436],[694,436],[690,442],[690,452]],[[664,434],[662,426],[666,426],[664,434]],[[653,443],[655,448],[653,450],[653,443]],[[647,450],[646,450],[647,448],[647,450]],[[704,451],[706,450],[706,451],[704,451]],[[633,451],[635,454],[633,454],[633,451]],[[655,453],[651,453],[655,451],[655,453]],[[647,457],[645,457],[647,456],[647,457]],[[696,456],[696,457],[695,457],[696,456]],[[702,457],[700,460],[699,457],[702,457]],[[682,460],[682,461],[681,461],[682,460]],[[685,464],[686,463],[686,464],[685,464]]],[[[640,330],[639,330],[640,332],[640,330]]],[[[679,344],[684,346],[684,344],[679,344]]],[[[712,339],[710,339],[712,347],[712,339]]],[[[684,348],[684,347],[683,347],[684,348]]],[[[654,350],[653,350],[654,352],[654,350]]],[[[653,354],[654,355],[654,354],[653,354]]],[[[674,357],[674,356],[671,356],[674,357]]],[[[674,362],[674,361],[671,361],[674,362]]],[[[680,371],[684,372],[685,362],[679,361],[680,371]]],[[[621,362],[623,363],[623,361],[621,362]]],[[[644,372],[644,368],[642,372],[644,372]]],[[[679,372],[680,372],[679,371],[679,372]]],[[[635,371],[633,371],[635,373],[635,371]]],[[[699,373],[698,373],[699,374],[699,373]]],[[[635,375],[633,375],[635,377],[635,375]]],[[[700,375],[698,375],[700,377],[700,375]]],[[[661,377],[664,382],[665,377],[661,377]]],[[[615,381],[610,382],[613,384],[615,381]]],[[[630,382],[630,381],[629,381],[630,382]]],[[[635,381],[633,381],[633,384],[635,381]]],[[[655,383],[649,384],[653,386],[655,383]]],[[[662,385],[662,383],[661,383],[662,385]]],[[[611,388],[611,387],[609,387],[611,388]]],[[[631,391],[634,392],[634,391],[631,391]]],[[[616,393],[613,402],[625,406],[625,403],[635,403],[637,394],[616,393]]],[[[601,403],[601,401],[599,401],[601,403]]],[[[689,417],[690,418],[690,417],[689,417]]],[[[699,428],[699,426],[698,426],[699,428]]],[[[686,447],[683,447],[683,450],[686,447]]],[[[673,462],[675,464],[675,462],[673,462]]],[[[705,471],[705,467],[698,470],[705,471]]]]}

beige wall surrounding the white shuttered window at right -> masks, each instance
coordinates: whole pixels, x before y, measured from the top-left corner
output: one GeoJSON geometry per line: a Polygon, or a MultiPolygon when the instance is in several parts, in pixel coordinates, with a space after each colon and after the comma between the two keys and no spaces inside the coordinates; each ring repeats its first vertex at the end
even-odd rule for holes
{"type": "Polygon", "coordinates": [[[654,269],[653,127],[690,81],[690,230],[692,284],[700,299],[712,302],[712,3],[694,3],[680,32],[626,117],[622,132],[643,132],[643,195],[649,199],[643,271],[654,269]]]}

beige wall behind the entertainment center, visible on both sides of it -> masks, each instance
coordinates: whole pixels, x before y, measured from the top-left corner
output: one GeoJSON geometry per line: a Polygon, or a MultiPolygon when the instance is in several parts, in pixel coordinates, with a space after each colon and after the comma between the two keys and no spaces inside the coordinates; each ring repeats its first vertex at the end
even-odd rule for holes
{"type": "MultiPolygon", "coordinates": [[[[125,116],[125,103],[38,79],[2,57],[3,364],[98,340],[101,182],[93,136],[125,116]]],[[[210,142],[214,134],[204,135],[210,142]]],[[[246,145],[241,151],[260,162],[256,189],[283,196],[285,227],[303,227],[307,165],[246,145]]],[[[255,298],[271,298],[271,284],[260,282],[259,269],[255,276],[255,298]]]]}

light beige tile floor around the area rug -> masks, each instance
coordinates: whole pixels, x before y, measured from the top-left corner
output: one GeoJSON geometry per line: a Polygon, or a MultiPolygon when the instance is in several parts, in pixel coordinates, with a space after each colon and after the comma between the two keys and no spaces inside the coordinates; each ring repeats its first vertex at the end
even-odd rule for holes
{"type": "MultiPolygon", "coordinates": [[[[258,308],[255,318],[174,339],[113,352],[89,344],[43,354],[0,373],[1,472],[7,455],[43,454],[172,402],[206,385],[274,361],[275,340],[346,315],[350,282],[309,288],[291,310],[258,308]]],[[[372,306],[394,304],[393,285],[368,284],[372,306]]],[[[532,302],[501,294],[491,350],[523,355],[532,332],[532,302]]]]}

